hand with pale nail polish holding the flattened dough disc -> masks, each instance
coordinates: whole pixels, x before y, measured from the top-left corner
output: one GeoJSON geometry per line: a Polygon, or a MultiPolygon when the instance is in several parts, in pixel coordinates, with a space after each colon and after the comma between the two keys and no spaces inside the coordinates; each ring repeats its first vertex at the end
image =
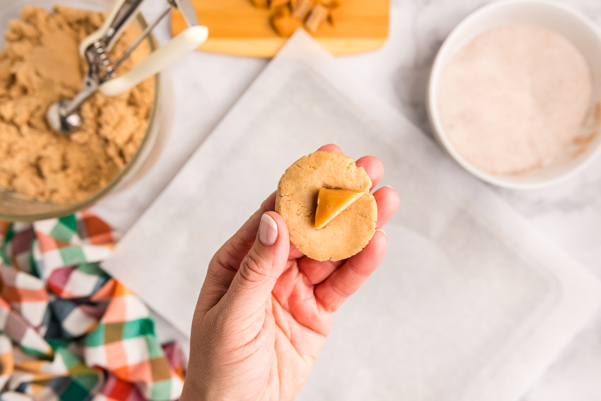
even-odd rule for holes
{"type": "MultiPolygon", "coordinates": [[[[319,150],[340,152],[336,145],[319,150]]],[[[373,156],[356,161],[372,189],[384,167],[373,156]]],[[[400,200],[394,189],[374,192],[377,228],[400,200]]],[[[274,212],[275,193],[219,249],[207,271],[192,322],[182,401],[293,400],[307,381],[332,325],[332,313],[382,262],[386,234],[377,230],[358,254],[318,262],[290,243],[274,212]]]]}

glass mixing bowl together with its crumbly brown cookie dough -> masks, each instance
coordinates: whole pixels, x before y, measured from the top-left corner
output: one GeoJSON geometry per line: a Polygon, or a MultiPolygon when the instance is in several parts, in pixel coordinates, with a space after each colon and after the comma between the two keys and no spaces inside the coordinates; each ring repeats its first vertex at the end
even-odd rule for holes
{"type": "MultiPolygon", "coordinates": [[[[0,4],[0,31],[6,32],[0,40],[0,219],[38,221],[90,207],[136,182],[162,152],[172,117],[163,73],[115,97],[94,94],[82,105],[84,123],[69,135],[47,124],[48,106],[81,90],[87,63],[79,55],[79,43],[102,24],[103,11],[111,4],[0,4]]],[[[112,61],[145,26],[141,15],[132,20],[111,51],[112,61]]],[[[147,36],[117,75],[156,48],[153,35],[147,36]]]]}

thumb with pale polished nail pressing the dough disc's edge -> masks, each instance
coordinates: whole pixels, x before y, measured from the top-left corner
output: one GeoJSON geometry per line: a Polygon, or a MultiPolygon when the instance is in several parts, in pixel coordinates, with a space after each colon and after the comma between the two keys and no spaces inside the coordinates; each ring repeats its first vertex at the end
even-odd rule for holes
{"type": "Polygon", "coordinates": [[[230,300],[244,305],[249,313],[263,309],[286,267],[289,251],[290,236],[284,219],[276,212],[264,213],[255,243],[228,290],[230,300]]]}

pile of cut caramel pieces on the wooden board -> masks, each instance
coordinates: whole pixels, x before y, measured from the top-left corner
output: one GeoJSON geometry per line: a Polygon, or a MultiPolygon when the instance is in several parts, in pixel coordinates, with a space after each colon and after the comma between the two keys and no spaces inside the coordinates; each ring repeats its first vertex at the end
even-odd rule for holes
{"type": "Polygon", "coordinates": [[[336,26],[342,20],[343,0],[251,0],[258,8],[269,8],[273,29],[280,36],[290,36],[304,26],[316,33],[326,21],[336,26]]]}

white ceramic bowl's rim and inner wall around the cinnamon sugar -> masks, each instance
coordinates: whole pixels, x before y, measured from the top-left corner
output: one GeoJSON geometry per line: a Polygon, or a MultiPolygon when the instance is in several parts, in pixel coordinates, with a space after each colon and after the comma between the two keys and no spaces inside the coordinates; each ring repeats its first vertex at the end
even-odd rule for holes
{"type": "MultiPolygon", "coordinates": [[[[470,173],[494,185],[514,189],[534,189],[553,185],[584,169],[601,152],[599,124],[594,124],[595,108],[601,108],[601,29],[584,14],[567,5],[538,0],[504,0],[486,5],[463,20],[447,37],[432,67],[428,88],[428,113],[436,139],[470,173]],[[526,173],[495,175],[474,167],[448,140],[438,111],[442,73],[457,52],[478,34],[499,25],[528,24],[552,29],[568,38],[582,52],[593,72],[593,101],[578,144],[572,144],[549,165],[526,173]],[[597,126],[595,126],[597,125],[597,126]]],[[[599,110],[601,112],[601,109],[599,110]]],[[[597,115],[597,118],[599,116],[597,115]]]]}

